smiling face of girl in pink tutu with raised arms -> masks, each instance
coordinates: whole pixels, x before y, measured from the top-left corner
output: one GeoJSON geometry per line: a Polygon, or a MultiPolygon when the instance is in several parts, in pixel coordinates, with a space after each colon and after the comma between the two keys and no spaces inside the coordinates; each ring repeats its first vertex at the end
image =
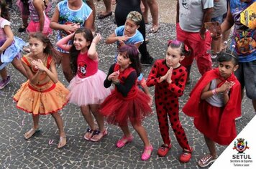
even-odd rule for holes
{"type": "Polygon", "coordinates": [[[88,50],[88,46],[91,44],[91,42],[86,40],[86,38],[83,36],[83,33],[78,33],[74,36],[73,44],[77,50],[85,52],[88,50]]]}

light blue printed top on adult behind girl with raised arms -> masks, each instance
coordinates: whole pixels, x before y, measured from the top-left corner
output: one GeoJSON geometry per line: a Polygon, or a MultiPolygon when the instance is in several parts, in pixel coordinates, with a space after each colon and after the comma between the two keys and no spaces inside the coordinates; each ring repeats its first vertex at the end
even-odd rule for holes
{"type": "MultiPolygon", "coordinates": [[[[59,16],[59,24],[80,24],[81,27],[84,27],[85,21],[88,19],[88,17],[92,14],[91,8],[83,2],[82,6],[78,10],[72,10],[68,7],[68,0],[60,1],[58,3],[58,10],[60,12],[59,16]]],[[[66,37],[68,35],[67,32],[64,30],[58,30],[58,41],[62,39],[63,37],[66,37]]],[[[71,41],[69,42],[69,44],[71,41]]],[[[60,49],[58,47],[58,51],[63,53],[65,52],[63,49],[60,49]]]]}

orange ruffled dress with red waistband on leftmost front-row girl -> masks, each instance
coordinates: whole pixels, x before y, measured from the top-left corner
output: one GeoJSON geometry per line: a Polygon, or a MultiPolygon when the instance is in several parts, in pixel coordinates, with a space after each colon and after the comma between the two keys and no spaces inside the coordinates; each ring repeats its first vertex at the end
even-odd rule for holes
{"type": "MultiPolygon", "coordinates": [[[[31,60],[24,56],[22,62],[27,64],[32,69],[32,72],[37,72],[37,69],[32,66],[31,60]]],[[[49,69],[52,57],[48,56],[45,65],[49,69]]],[[[46,73],[42,73],[40,79],[45,79],[46,73]]],[[[53,112],[58,112],[68,103],[68,89],[63,84],[56,84],[49,80],[45,84],[35,85],[29,80],[24,82],[17,93],[14,95],[14,100],[17,102],[17,108],[33,115],[47,115],[53,112]]]]}

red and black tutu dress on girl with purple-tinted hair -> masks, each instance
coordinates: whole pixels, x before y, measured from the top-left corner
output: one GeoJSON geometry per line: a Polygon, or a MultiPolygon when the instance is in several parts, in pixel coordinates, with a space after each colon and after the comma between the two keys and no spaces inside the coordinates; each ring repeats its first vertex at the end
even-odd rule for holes
{"type": "MultiPolygon", "coordinates": [[[[112,64],[109,74],[119,69],[119,64],[112,64]]],[[[101,114],[114,125],[127,126],[128,118],[133,123],[141,124],[144,117],[152,113],[150,97],[137,87],[137,73],[132,67],[119,72],[118,79],[120,83],[116,84],[111,95],[101,104],[101,114]]],[[[111,81],[106,78],[104,86],[110,87],[111,81]]]]}

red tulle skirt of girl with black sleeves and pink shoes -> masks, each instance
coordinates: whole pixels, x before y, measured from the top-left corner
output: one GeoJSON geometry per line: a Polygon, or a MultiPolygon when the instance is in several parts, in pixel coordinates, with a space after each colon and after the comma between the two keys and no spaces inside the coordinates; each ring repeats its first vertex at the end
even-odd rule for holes
{"type": "Polygon", "coordinates": [[[114,90],[101,104],[100,113],[113,125],[127,126],[128,118],[132,124],[141,124],[146,116],[152,115],[149,103],[150,97],[141,90],[129,100],[120,97],[114,90]]]}

